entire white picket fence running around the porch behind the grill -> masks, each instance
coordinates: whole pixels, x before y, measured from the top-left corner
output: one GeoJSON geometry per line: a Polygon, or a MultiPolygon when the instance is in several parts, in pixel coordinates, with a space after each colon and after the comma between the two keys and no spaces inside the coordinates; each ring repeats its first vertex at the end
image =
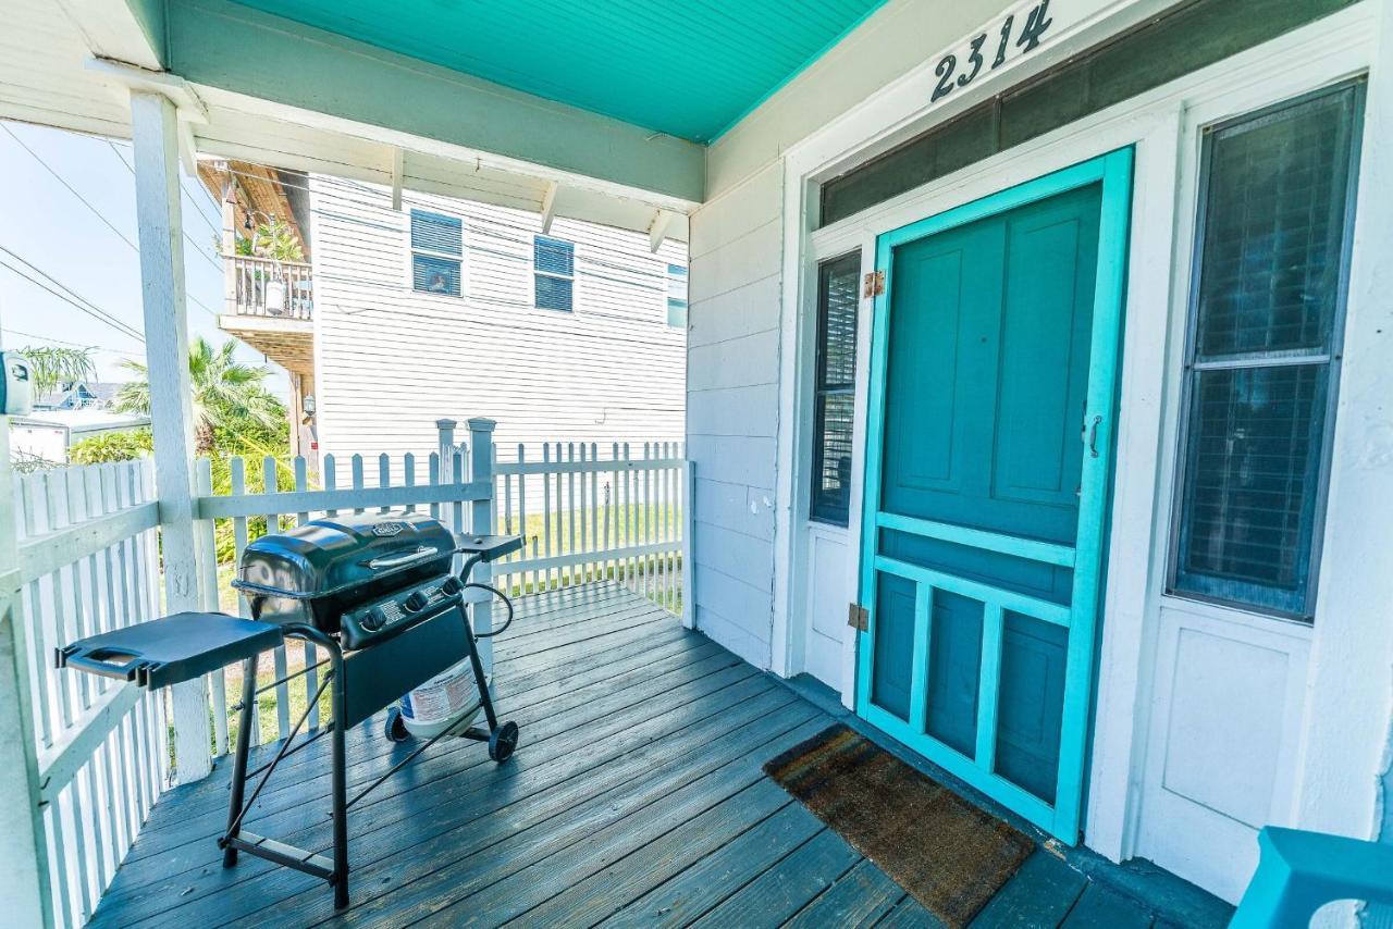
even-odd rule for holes
{"type": "MultiPolygon", "coordinates": [[[[607,581],[690,620],[683,545],[691,475],[680,444],[645,443],[641,454],[612,444],[602,457],[595,443],[547,443],[540,455],[520,447],[515,461],[500,462],[493,423],[469,425],[468,439],[457,443],[454,423],[437,423],[439,448],[423,458],[325,455],[319,487],[297,458],[290,487],[280,489],[281,467],[266,458],[259,464],[263,489],[248,492],[256,482],[248,481],[247,462],[233,458],[228,490],[213,493],[212,465],[201,460],[195,535],[210,552],[230,536],[240,557],[258,535],[325,514],[423,510],[454,532],[524,535],[522,552],[475,571],[476,579],[513,595],[607,581]]],[[[56,922],[64,926],[86,922],[155,799],[178,779],[180,755],[202,748],[202,730],[195,738],[176,731],[167,692],[54,669],[57,648],[162,614],[155,500],[150,461],[60,468],[15,482],[24,623],[14,641],[28,667],[21,705],[29,703],[36,742],[35,825],[47,850],[56,922]]],[[[231,606],[228,595],[233,564],[209,561],[201,595],[208,609],[221,603],[245,616],[245,603],[235,598],[231,606]]],[[[490,616],[490,603],[476,603],[478,625],[488,628],[490,616]]],[[[488,649],[481,642],[492,664],[488,649]]],[[[302,643],[262,656],[255,742],[290,733],[318,688],[322,657],[302,643]]],[[[230,667],[208,678],[209,758],[235,745],[237,708],[227,695],[241,692],[241,674],[230,667]]],[[[326,716],[311,712],[308,728],[326,716]]],[[[206,767],[201,758],[189,760],[185,770],[206,767]]]]}

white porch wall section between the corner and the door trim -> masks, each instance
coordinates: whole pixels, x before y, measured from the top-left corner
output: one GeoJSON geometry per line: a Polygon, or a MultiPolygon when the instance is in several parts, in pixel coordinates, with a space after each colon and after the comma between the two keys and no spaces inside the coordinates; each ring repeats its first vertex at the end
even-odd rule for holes
{"type": "Polygon", "coordinates": [[[780,206],[772,164],[692,216],[687,453],[696,462],[696,628],[770,666],[780,206]]]}

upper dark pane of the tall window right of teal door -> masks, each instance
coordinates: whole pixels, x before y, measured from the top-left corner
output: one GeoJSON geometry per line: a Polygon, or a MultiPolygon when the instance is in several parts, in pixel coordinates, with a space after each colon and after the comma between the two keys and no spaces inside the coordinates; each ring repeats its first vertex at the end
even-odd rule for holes
{"type": "Polygon", "coordinates": [[[1219,130],[1199,274],[1202,358],[1325,350],[1340,299],[1348,93],[1219,130]]]}

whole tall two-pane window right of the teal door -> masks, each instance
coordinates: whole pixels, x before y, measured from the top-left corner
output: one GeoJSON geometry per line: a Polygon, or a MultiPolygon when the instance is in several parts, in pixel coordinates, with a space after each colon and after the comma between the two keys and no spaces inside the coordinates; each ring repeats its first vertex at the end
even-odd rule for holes
{"type": "Polygon", "coordinates": [[[1172,588],[1309,617],[1362,84],[1205,138],[1172,588]]]}

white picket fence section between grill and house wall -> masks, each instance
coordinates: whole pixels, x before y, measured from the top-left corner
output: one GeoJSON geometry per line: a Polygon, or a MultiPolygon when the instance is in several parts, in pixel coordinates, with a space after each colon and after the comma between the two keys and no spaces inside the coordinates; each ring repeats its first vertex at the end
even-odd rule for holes
{"type": "Polygon", "coordinates": [[[495,522],[525,536],[493,565],[497,582],[524,593],[610,579],[666,609],[683,610],[683,539],[688,475],[681,443],[546,443],[540,458],[517,447],[495,465],[495,522]]]}

